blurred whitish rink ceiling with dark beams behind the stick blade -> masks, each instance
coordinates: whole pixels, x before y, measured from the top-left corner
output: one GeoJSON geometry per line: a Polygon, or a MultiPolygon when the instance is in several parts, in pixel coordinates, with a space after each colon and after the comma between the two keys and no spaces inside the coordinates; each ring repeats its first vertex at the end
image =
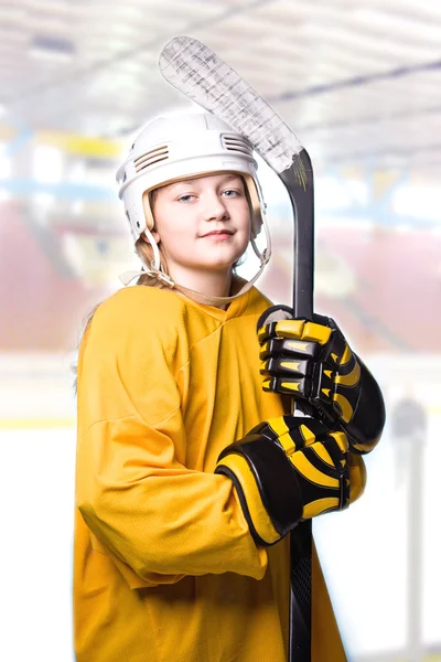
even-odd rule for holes
{"type": "Polygon", "coordinates": [[[320,166],[439,164],[441,4],[432,0],[4,1],[6,121],[129,134],[185,105],[157,67],[176,34],[205,41],[235,66],[320,166]]]}

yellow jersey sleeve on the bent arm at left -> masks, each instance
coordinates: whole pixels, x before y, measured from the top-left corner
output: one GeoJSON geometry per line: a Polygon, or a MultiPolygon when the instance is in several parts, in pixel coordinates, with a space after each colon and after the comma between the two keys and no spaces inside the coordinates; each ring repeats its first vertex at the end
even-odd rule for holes
{"type": "Polygon", "coordinates": [[[76,505],[97,544],[147,585],[227,572],[261,578],[267,554],[232,481],[185,467],[185,355],[179,324],[160,318],[107,301],[84,338],[76,505]]]}

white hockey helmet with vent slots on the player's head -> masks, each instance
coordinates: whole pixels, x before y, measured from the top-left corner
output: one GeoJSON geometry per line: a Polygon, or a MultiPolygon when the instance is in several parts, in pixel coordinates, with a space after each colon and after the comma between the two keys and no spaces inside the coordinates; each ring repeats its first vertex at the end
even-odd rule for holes
{"type": "Polygon", "coordinates": [[[146,125],[119,168],[117,182],[133,241],[144,234],[152,246],[153,261],[146,265],[148,270],[155,276],[162,274],[160,254],[151,234],[154,221],[149,193],[175,181],[222,172],[243,177],[251,207],[252,248],[261,264],[266,264],[270,252],[269,233],[256,170],[251,143],[213,115],[158,117],[146,125]],[[268,246],[261,254],[255,239],[262,224],[268,246]]]}

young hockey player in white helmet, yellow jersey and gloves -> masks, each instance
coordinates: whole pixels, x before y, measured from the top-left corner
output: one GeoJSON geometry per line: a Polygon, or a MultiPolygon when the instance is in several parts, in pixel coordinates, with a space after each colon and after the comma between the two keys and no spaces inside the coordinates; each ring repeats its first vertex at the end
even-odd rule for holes
{"type": "MultiPolygon", "coordinates": [[[[379,389],[327,318],[257,335],[270,302],[234,273],[249,244],[269,258],[243,136],[157,118],[118,180],[143,270],[80,345],[77,662],[286,662],[287,534],[363,492],[379,389]]],[[[312,659],[345,660],[315,551],[312,659]]]]}

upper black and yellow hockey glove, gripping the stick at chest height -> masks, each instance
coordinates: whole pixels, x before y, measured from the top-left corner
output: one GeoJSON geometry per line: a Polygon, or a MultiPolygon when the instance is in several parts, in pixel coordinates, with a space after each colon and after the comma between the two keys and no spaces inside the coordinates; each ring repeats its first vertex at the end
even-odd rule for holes
{"type": "Polygon", "coordinates": [[[275,306],[260,317],[258,338],[263,391],[292,395],[301,407],[308,403],[313,409],[304,410],[341,427],[356,452],[376,446],[385,425],[383,395],[334,320],[295,319],[290,308],[275,306]]]}

